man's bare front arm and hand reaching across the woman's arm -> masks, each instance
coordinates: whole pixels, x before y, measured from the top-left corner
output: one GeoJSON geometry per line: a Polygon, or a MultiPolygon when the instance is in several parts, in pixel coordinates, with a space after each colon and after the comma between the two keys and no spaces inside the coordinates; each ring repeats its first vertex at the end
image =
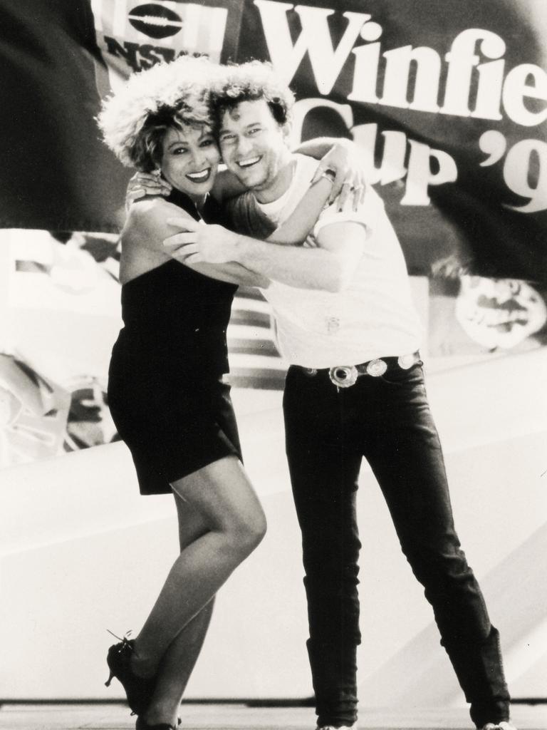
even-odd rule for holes
{"type": "Polygon", "coordinates": [[[190,223],[187,233],[176,234],[166,245],[175,247],[171,255],[187,263],[237,261],[267,279],[337,292],[351,282],[365,236],[362,223],[330,223],[319,231],[317,248],[296,248],[233,234],[222,226],[190,223]]]}

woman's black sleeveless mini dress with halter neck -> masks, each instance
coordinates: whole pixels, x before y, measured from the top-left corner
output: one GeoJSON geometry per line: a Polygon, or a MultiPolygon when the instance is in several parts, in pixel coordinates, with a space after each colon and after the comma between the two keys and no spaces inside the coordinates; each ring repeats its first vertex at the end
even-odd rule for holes
{"type": "MultiPolygon", "coordinates": [[[[168,200],[199,220],[193,201],[168,200]]],[[[209,197],[203,217],[222,223],[209,197]]],[[[131,450],[141,494],[224,456],[241,459],[230,386],[226,328],[237,286],[172,259],[122,287],[124,327],[112,350],[109,408],[131,450]]]]}

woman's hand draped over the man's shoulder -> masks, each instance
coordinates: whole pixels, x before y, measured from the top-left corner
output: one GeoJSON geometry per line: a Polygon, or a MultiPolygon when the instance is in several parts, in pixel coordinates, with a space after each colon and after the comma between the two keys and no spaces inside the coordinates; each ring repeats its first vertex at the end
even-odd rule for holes
{"type": "Polygon", "coordinates": [[[353,210],[357,210],[365,198],[365,172],[359,147],[350,139],[342,137],[321,158],[311,185],[322,177],[333,180],[329,203],[338,198],[338,210],[343,210],[346,201],[352,197],[353,210]]]}

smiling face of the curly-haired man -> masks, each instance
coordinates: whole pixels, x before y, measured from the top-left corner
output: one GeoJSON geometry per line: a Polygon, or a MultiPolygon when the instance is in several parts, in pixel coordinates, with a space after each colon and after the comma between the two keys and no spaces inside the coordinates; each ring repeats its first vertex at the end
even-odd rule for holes
{"type": "Polygon", "coordinates": [[[240,101],[222,114],[222,159],[260,202],[276,200],[290,185],[288,131],[276,122],[265,99],[240,101]]]}

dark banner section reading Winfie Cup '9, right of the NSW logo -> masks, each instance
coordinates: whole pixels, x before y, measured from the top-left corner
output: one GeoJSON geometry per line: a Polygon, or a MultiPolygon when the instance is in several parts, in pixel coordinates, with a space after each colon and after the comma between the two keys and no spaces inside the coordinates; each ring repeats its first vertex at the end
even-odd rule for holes
{"type": "Polygon", "coordinates": [[[362,147],[411,273],[546,277],[543,0],[255,0],[242,22],[238,61],[290,82],[297,136],[362,147]]]}

